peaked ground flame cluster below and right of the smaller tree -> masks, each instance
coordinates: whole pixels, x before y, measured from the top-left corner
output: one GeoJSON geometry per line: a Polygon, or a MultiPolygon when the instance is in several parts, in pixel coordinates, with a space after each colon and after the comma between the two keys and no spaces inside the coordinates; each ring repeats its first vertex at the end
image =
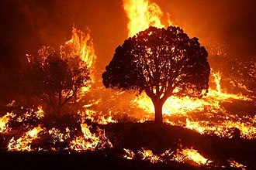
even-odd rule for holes
{"type": "Polygon", "coordinates": [[[98,128],[97,133],[90,131],[91,126],[81,124],[83,136],[76,137],[71,141],[70,148],[74,151],[95,151],[96,149],[112,148],[112,143],[106,138],[105,131],[98,128]]]}

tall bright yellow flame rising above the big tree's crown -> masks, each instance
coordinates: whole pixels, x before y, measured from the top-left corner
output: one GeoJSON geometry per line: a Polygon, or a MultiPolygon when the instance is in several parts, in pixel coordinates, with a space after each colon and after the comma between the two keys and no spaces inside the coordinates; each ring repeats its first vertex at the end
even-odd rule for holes
{"type": "MultiPolygon", "coordinates": [[[[161,22],[163,12],[161,8],[154,2],[149,0],[123,0],[123,8],[126,12],[128,23],[128,36],[134,36],[140,31],[144,31],[150,26],[157,28],[165,27],[161,22]]],[[[168,16],[168,25],[173,25],[170,14],[168,16]]]]}

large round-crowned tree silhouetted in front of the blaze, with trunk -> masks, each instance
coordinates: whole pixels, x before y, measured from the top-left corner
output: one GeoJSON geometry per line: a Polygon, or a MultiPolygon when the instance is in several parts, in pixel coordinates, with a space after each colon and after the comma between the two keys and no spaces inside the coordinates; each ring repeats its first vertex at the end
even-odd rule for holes
{"type": "Polygon", "coordinates": [[[145,91],[155,108],[155,122],[162,123],[162,106],[172,95],[202,97],[208,91],[208,53],[198,39],[182,29],[150,27],[116,48],[106,72],[106,88],[145,91]]]}

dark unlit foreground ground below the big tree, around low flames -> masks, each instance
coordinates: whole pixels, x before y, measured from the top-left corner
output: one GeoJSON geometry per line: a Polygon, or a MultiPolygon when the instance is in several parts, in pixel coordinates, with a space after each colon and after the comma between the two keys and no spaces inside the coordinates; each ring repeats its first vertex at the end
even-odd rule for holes
{"type": "Polygon", "coordinates": [[[114,148],[104,151],[9,152],[0,151],[0,169],[239,169],[230,168],[227,160],[234,159],[246,169],[256,169],[256,141],[239,137],[219,138],[167,124],[150,122],[102,125],[114,148]],[[218,166],[195,166],[169,162],[152,164],[126,160],[123,148],[133,151],[147,148],[155,154],[178,147],[194,148],[218,166]],[[221,166],[225,167],[222,168],[221,166]]]}

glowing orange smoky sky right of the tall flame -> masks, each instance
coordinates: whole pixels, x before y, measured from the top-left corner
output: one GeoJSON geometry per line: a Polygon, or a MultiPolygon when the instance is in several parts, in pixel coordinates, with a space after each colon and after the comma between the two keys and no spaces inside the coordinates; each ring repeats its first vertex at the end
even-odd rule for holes
{"type": "Polygon", "coordinates": [[[203,46],[225,43],[234,58],[256,55],[256,2],[252,0],[157,0],[164,12],[203,46]]]}

